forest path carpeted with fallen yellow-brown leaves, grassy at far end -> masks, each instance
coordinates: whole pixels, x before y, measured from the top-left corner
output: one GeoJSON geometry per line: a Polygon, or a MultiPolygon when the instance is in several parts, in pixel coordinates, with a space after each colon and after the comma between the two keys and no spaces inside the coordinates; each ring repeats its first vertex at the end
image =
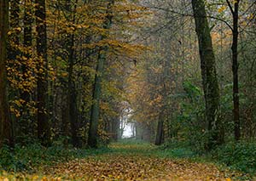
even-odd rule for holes
{"type": "Polygon", "coordinates": [[[111,144],[108,153],[61,163],[47,174],[65,180],[230,180],[212,164],[165,158],[160,151],[150,144],[111,144]]]}

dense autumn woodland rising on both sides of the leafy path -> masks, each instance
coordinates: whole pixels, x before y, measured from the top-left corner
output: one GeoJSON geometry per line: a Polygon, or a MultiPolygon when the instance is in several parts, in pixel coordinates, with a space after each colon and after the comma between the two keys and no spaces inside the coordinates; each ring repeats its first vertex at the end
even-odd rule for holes
{"type": "Polygon", "coordinates": [[[1,0],[0,32],[2,150],[100,148],[129,123],[256,171],[254,0],[1,0]]]}

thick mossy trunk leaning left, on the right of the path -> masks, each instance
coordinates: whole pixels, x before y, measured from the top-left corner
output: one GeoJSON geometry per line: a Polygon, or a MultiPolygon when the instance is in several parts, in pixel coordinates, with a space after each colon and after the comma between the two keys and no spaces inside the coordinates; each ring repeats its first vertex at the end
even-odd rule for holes
{"type": "Polygon", "coordinates": [[[207,129],[210,133],[207,150],[211,150],[214,145],[223,143],[223,135],[220,132],[221,122],[218,118],[219,88],[215,56],[212,48],[212,37],[207,21],[205,3],[203,0],[192,0],[192,6],[201,58],[201,76],[206,102],[206,122],[207,129]]]}

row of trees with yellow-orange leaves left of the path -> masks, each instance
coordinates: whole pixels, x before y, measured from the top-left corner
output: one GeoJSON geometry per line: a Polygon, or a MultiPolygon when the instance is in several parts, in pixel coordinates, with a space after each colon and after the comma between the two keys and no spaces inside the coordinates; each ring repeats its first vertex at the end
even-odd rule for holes
{"type": "Polygon", "coordinates": [[[147,9],[113,0],[0,4],[0,146],[117,139],[121,72],[143,50],[129,41],[147,9]]]}

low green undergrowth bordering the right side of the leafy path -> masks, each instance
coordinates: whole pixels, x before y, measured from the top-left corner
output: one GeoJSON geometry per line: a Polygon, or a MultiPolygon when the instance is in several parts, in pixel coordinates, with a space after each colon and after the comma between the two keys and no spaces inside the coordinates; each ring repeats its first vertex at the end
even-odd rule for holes
{"type": "Polygon", "coordinates": [[[218,146],[210,153],[195,152],[185,142],[169,142],[159,147],[159,155],[172,158],[186,158],[190,161],[213,162],[220,169],[238,171],[242,179],[256,177],[256,142],[230,142],[218,146]],[[203,154],[202,154],[203,153],[203,154]]]}

